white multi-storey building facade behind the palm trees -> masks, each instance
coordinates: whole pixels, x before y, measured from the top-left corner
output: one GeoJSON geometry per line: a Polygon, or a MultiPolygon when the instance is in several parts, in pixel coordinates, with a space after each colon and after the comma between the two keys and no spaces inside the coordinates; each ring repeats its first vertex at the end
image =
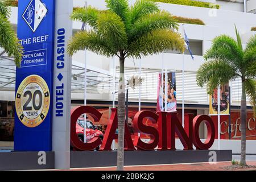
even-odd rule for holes
{"type": "MultiPolygon", "coordinates": [[[[209,113],[209,96],[206,87],[200,88],[196,84],[196,72],[200,65],[204,63],[203,55],[211,47],[212,40],[218,35],[226,34],[236,39],[234,26],[236,25],[242,37],[243,46],[256,31],[251,31],[251,27],[256,26],[256,0],[201,0],[204,2],[216,3],[220,9],[209,9],[204,7],[174,5],[171,3],[158,3],[160,9],[169,11],[176,16],[185,18],[198,18],[203,20],[205,25],[184,24],[185,32],[191,42],[191,49],[195,59],[192,60],[188,52],[185,53],[185,84],[184,84],[184,104],[185,110],[195,110],[196,114],[209,113]],[[245,13],[246,11],[246,13],[245,13]]],[[[130,0],[133,4],[135,0],[130,0]]],[[[104,0],[73,0],[73,7],[84,7],[91,5],[98,9],[105,9],[104,0]]],[[[10,21],[15,30],[17,26],[18,8],[11,7],[10,21]]],[[[179,23],[180,24],[180,23],[179,23]]],[[[73,22],[73,33],[80,31],[81,22],[73,22]]],[[[183,30],[179,28],[182,34],[183,30]]],[[[4,55],[1,55],[4,56],[4,55]]],[[[0,100],[14,101],[15,98],[15,66],[11,60],[2,57],[0,60],[0,100]]],[[[98,107],[111,107],[113,101],[113,91],[117,91],[118,82],[118,57],[104,57],[90,51],[80,50],[72,57],[72,106],[84,104],[84,63],[87,65],[87,103],[98,107]],[[113,85],[115,77],[115,89],[113,85]]],[[[138,59],[126,59],[126,79],[133,75],[139,75],[139,64],[141,61],[142,77],[141,86],[142,108],[156,107],[158,73],[162,69],[176,72],[176,92],[177,109],[181,109],[182,102],[182,60],[183,55],[171,53],[169,51],[159,55],[142,57],[138,59]],[[163,63],[163,64],[162,64],[163,63]]],[[[240,109],[241,81],[239,79],[230,81],[232,110],[240,109]]],[[[115,96],[117,97],[117,96],[115,96]]],[[[138,88],[129,88],[129,107],[138,108],[138,88]]],[[[115,99],[117,101],[117,99],[115,99]]],[[[249,100],[248,105],[250,106],[249,100]]],[[[115,103],[117,104],[117,103],[115,103]]],[[[251,111],[250,107],[248,108],[251,111]]],[[[186,111],[185,111],[186,113],[186,111]]],[[[202,136],[204,135],[202,127],[202,136]]],[[[203,136],[204,137],[204,136],[203,136]]]]}

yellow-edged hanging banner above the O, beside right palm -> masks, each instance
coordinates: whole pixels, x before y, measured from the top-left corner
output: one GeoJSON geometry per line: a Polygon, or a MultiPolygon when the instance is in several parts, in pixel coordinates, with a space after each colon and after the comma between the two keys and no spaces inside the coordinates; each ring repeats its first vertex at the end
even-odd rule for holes
{"type": "MultiPolygon", "coordinates": [[[[220,86],[220,114],[229,114],[229,84],[220,86]]],[[[213,95],[209,96],[209,114],[218,114],[218,89],[213,90],[213,95]]]]}

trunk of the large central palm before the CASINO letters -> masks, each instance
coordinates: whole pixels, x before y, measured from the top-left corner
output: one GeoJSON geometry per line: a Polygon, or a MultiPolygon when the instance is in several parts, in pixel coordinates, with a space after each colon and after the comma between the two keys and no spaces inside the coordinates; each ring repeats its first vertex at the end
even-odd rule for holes
{"type": "Polygon", "coordinates": [[[118,147],[117,147],[117,170],[123,171],[124,139],[125,139],[125,59],[121,57],[120,76],[118,86],[118,147]]]}

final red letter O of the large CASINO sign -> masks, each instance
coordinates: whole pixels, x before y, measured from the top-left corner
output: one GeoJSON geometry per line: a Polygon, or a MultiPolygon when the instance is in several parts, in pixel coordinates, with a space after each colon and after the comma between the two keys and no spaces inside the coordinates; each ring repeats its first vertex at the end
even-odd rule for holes
{"type": "Polygon", "coordinates": [[[214,138],[215,127],[212,118],[210,118],[208,115],[197,115],[193,119],[193,144],[195,147],[200,150],[208,150],[210,147],[212,147],[214,138]],[[205,143],[201,142],[199,137],[199,126],[201,122],[205,122],[205,125],[207,126],[207,139],[205,140],[205,143]]]}

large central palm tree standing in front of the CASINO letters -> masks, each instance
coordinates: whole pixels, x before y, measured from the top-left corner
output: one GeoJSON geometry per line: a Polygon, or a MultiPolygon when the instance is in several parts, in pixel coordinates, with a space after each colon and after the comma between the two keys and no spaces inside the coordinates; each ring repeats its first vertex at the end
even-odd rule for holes
{"type": "Polygon", "coordinates": [[[68,52],[89,49],[98,54],[119,57],[118,87],[118,154],[117,169],[123,170],[125,123],[125,59],[153,55],[166,49],[184,51],[184,40],[175,30],[178,24],[155,2],[139,0],[129,6],[128,0],[105,0],[106,10],[94,7],[76,9],[71,18],[89,24],[91,30],[73,36],[68,52]]]}

